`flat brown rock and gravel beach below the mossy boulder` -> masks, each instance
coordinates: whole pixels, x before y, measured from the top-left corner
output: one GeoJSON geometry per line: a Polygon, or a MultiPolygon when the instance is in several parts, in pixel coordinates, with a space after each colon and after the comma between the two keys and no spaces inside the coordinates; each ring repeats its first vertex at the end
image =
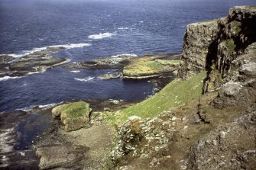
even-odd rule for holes
{"type": "Polygon", "coordinates": [[[108,159],[113,133],[105,124],[65,132],[59,126],[35,144],[41,169],[101,169],[108,159]]]}

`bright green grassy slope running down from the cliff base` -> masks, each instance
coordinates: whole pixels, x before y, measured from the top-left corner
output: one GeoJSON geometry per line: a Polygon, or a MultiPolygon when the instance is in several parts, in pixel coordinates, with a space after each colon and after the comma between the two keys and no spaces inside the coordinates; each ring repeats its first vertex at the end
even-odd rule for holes
{"type": "Polygon", "coordinates": [[[147,98],[138,104],[134,104],[125,110],[119,111],[120,117],[118,118],[118,122],[122,123],[133,115],[142,118],[154,117],[162,111],[167,111],[186,104],[193,98],[202,95],[203,79],[205,77],[206,72],[201,72],[198,75],[193,75],[186,81],[180,79],[173,80],[173,82],[170,82],[151,98],[147,98]]]}

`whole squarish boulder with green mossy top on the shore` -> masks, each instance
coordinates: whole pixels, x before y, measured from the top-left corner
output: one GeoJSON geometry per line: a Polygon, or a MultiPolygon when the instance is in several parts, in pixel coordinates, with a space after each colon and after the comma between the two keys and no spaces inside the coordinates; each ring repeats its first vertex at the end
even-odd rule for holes
{"type": "Polygon", "coordinates": [[[69,132],[82,127],[90,127],[89,114],[91,111],[88,103],[78,101],[54,107],[52,114],[54,118],[60,117],[64,130],[69,132]]]}

